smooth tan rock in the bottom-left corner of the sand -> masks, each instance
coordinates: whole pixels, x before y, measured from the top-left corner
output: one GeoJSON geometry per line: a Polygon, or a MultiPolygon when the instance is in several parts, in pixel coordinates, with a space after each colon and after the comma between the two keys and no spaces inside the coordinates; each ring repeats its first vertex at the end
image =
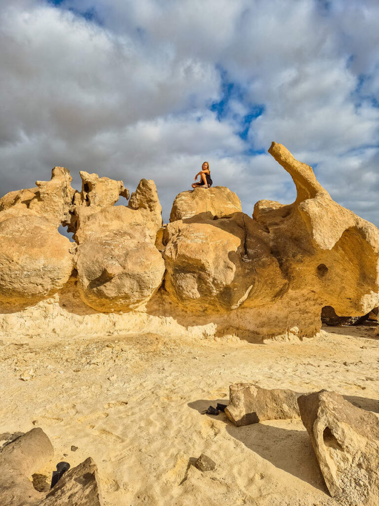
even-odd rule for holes
{"type": "Polygon", "coordinates": [[[35,428],[3,447],[0,452],[0,506],[34,506],[43,494],[29,476],[54,455],[42,429],[35,428]]]}

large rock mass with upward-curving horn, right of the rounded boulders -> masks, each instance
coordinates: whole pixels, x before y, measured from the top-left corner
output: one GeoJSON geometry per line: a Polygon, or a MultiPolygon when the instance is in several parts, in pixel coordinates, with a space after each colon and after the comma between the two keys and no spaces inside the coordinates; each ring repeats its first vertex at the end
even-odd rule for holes
{"type": "MultiPolygon", "coordinates": [[[[320,328],[323,306],[340,315],[367,313],[378,302],[377,228],[334,202],[312,168],[284,146],[272,143],[269,152],[294,180],[293,204],[261,200],[253,218],[218,210],[215,219],[198,205],[207,189],[180,194],[191,204],[163,237],[170,299],[194,314],[239,309],[254,320],[255,313],[264,335],[308,335],[320,328]]],[[[171,217],[180,216],[178,197],[171,217]]],[[[219,198],[214,209],[222,207],[219,198]]]]}

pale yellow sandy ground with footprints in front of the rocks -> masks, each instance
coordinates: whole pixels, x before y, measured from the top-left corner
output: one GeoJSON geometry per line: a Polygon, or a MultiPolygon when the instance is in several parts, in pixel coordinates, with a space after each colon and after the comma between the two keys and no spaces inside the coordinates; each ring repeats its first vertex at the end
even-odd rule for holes
{"type": "Polygon", "coordinates": [[[335,390],[379,412],[374,330],[325,327],[313,340],[264,345],[156,334],[3,341],[0,433],[41,427],[55,448],[40,471],[49,481],[58,461],[76,466],[91,456],[107,506],[339,504],[300,420],[236,428],[223,413],[200,412],[227,403],[236,382],[335,390]],[[202,452],[215,471],[192,465],[202,452]]]}

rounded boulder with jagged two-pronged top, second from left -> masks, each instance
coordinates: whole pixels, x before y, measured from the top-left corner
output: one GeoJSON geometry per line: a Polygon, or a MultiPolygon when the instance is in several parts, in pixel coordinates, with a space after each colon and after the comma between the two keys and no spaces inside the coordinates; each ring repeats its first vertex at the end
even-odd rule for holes
{"type": "Polygon", "coordinates": [[[139,309],[158,290],[165,271],[164,260],[155,246],[162,226],[155,184],[141,180],[128,206],[114,206],[122,182],[97,180],[92,174],[91,180],[97,184],[87,187],[88,176],[81,173],[85,179],[80,204],[75,207],[80,297],[101,312],[139,309]],[[108,201],[97,194],[97,189],[102,194],[104,187],[114,188],[113,198],[108,201]],[[86,190],[89,193],[85,194],[86,190]]]}

